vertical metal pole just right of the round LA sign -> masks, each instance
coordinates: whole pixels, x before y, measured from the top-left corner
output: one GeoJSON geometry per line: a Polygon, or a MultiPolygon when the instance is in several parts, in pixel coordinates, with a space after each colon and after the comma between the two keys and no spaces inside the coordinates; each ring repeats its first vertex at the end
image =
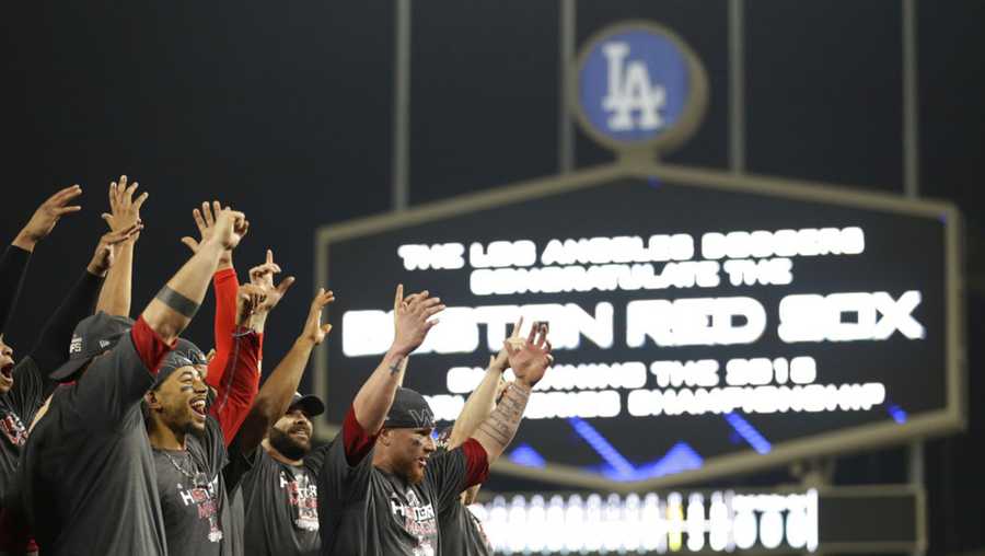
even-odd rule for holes
{"type": "Polygon", "coordinates": [[[745,2],[729,0],[729,169],[745,172],[745,2]]]}

